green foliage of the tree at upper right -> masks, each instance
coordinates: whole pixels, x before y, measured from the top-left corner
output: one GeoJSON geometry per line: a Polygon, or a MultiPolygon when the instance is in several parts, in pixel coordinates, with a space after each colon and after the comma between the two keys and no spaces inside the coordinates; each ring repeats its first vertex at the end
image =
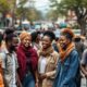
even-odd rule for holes
{"type": "Polygon", "coordinates": [[[87,0],[61,0],[60,2],[58,2],[58,0],[50,0],[51,2],[51,8],[57,8],[57,12],[59,12],[59,14],[64,14],[69,11],[69,10],[76,10],[76,8],[79,9],[87,9],[87,0]]]}

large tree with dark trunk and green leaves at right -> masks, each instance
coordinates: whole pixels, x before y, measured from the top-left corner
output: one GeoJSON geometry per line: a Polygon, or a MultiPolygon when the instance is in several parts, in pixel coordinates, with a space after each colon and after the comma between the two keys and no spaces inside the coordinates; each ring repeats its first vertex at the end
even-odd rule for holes
{"type": "Polygon", "coordinates": [[[65,14],[69,10],[74,11],[77,16],[77,23],[82,29],[82,34],[86,33],[86,21],[87,21],[87,0],[50,0],[51,7],[57,8],[57,11],[65,14]]]}

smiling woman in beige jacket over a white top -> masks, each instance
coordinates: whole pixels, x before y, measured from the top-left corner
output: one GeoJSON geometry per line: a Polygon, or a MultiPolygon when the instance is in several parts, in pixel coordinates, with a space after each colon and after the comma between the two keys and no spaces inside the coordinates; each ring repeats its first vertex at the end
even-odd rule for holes
{"type": "Polygon", "coordinates": [[[59,54],[52,48],[54,34],[46,32],[42,37],[42,48],[39,51],[38,72],[39,87],[52,87],[55,74],[55,66],[59,54]]]}

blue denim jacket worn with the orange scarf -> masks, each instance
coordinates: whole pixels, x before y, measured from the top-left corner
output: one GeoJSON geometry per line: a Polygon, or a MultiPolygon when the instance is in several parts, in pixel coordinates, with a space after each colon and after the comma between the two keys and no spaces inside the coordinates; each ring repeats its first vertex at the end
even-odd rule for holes
{"type": "Polygon", "coordinates": [[[64,60],[58,62],[57,76],[53,87],[78,87],[77,75],[79,72],[79,60],[76,50],[73,50],[64,60]]]}

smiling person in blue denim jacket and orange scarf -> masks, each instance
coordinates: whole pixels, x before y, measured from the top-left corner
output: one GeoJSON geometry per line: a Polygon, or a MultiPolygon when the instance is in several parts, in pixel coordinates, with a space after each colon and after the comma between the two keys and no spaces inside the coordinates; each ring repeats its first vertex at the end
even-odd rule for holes
{"type": "Polygon", "coordinates": [[[69,28],[63,29],[61,33],[59,39],[60,59],[53,87],[79,87],[80,82],[77,79],[79,75],[79,58],[72,41],[73,37],[74,34],[69,28]]]}

